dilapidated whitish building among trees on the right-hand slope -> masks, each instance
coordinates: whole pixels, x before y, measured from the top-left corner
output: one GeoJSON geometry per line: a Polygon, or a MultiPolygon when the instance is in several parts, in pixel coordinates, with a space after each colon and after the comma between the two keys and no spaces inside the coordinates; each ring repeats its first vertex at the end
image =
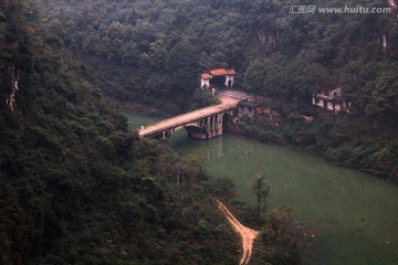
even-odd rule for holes
{"type": "Polygon", "coordinates": [[[335,113],[348,113],[350,103],[348,103],[342,94],[341,87],[335,89],[321,88],[320,93],[313,94],[313,105],[335,113]]]}

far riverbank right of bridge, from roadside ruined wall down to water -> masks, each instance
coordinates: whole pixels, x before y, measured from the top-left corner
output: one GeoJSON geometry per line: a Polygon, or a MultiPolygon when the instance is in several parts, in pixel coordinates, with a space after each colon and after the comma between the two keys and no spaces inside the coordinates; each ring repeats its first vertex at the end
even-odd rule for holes
{"type": "Polygon", "coordinates": [[[238,124],[243,125],[243,129],[233,128],[231,120],[230,131],[263,142],[289,145],[316,153],[336,166],[398,183],[398,127],[392,117],[392,120],[384,120],[354,108],[350,113],[334,114],[300,102],[261,97],[242,91],[227,93],[248,98],[254,110],[249,116],[239,115],[238,124]]]}

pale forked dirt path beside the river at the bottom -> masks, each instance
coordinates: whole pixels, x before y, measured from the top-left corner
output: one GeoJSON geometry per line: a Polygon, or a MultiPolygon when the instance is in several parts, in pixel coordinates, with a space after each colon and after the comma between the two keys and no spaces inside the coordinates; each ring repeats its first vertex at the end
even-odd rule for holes
{"type": "Polygon", "coordinates": [[[237,233],[239,233],[241,235],[241,237],[242,237],[243,254],[242,254],[242,258],[241,258],[239,265],[249,264],[249,261],[250,261],[250,257],[251,257],[251,254],[252,254],[252,250],[253,250],[254,240],[259,236],[260,232],[243,226],[232,215],[232,213],[228,210],[228,208],[222,202],[220,202],[219,200],[217,200],[217,204],[218,204],[219,209],[221,210],[221,212],[228,219],[229,223],[232,225],[233,230],[237,233]]]}

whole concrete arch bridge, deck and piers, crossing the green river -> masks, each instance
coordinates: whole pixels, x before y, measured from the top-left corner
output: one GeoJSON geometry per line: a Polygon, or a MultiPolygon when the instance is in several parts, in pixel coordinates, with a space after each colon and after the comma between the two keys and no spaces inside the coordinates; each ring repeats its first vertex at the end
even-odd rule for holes
{"type": "Polygon", "coordinates": [[[168,139],[176,131],[185,128],[188,136],[197,139],[210,139],[222,135],[228,119],[240,102],[239,98],[218,95],[221,104],[197,109],[169,119],[160,120],[138,130],[139,137],[168,139]]]}

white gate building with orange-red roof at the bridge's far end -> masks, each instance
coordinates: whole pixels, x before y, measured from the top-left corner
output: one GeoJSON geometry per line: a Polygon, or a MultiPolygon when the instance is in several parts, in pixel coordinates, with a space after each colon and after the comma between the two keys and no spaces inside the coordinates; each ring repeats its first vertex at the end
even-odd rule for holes
{"type": "Polygon", "coordinates": [[[200,80],[201,88],[227,87],[231,88],[234,82],[234,70],[217,68],[210,73],[202,73],[200,80]]]}

